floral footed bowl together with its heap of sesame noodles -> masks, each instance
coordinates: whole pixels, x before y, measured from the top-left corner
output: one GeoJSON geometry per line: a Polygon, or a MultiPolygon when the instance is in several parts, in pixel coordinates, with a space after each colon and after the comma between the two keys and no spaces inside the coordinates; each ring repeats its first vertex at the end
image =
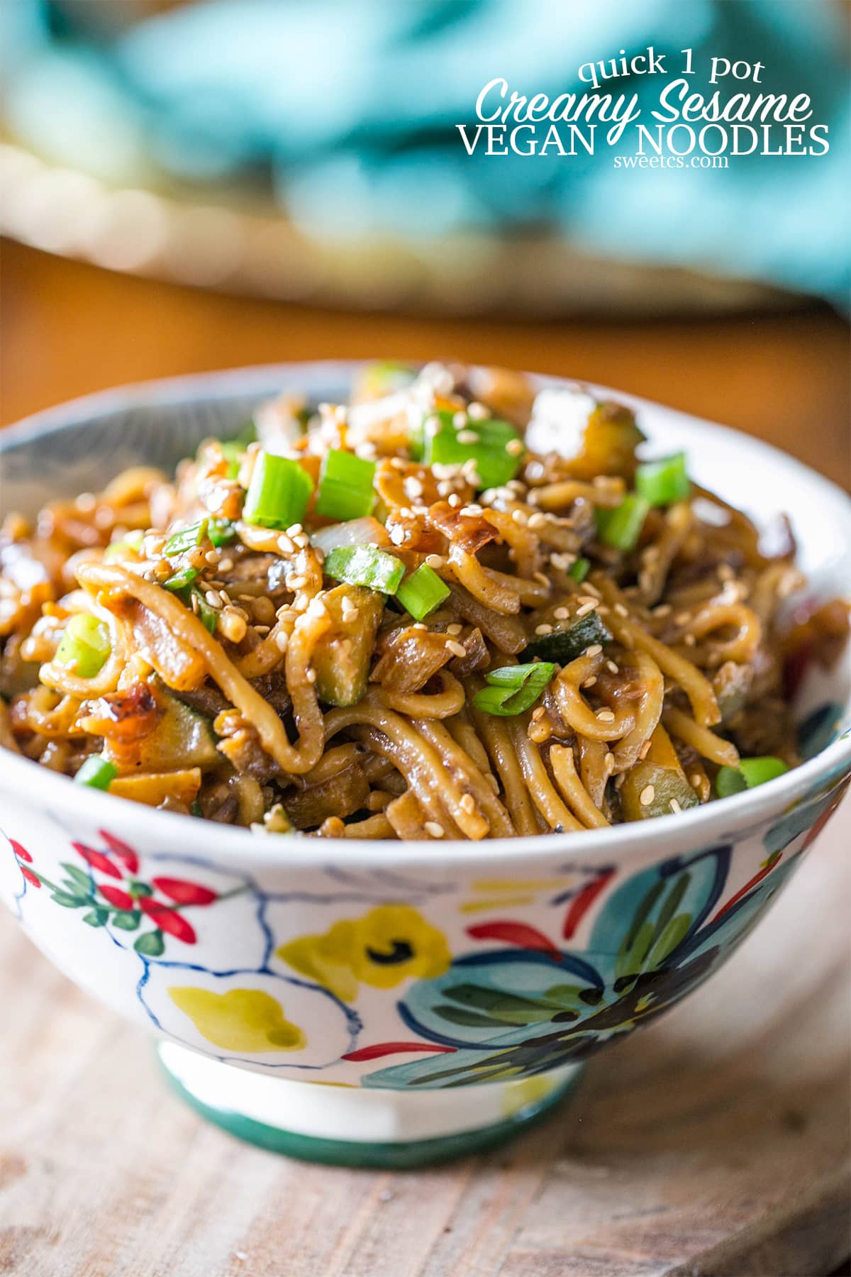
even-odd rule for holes
{"type": "Polygon", "coordinates": [[[80,400],[0,467],[0,895],[263,1147],[522,1129],[848,784],[851,502],[722,427],[315,363],[80,400]]]}

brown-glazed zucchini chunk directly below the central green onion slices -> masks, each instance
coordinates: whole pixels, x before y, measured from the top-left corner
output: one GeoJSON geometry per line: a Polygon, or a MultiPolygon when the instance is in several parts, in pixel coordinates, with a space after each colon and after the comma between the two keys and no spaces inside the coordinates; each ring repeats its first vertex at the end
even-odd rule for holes
{"type": "Polygon", "coordinates": [[[323,595],[333,624],[314,647],[316,695],[327,705],[356,705],[366,691],[384,596],[360,585],[338,585],[323,595]],[[343,599],[348,599],[343,621],[343,599]]]}

